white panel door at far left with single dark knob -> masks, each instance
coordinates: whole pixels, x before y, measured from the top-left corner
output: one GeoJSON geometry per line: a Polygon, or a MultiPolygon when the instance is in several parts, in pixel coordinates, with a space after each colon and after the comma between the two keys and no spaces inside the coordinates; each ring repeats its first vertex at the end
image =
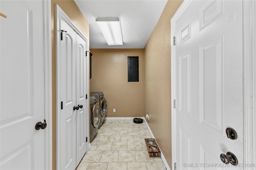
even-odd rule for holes
{"type": "Polygon", "coordinates": [[[45,169],[43,2],[1,0],[0,12],[0,169],[45,169]]]}

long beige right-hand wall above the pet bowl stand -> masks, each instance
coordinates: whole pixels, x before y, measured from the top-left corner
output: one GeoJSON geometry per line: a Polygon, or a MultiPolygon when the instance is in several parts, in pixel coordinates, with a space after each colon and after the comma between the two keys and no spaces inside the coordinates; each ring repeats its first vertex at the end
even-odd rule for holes
{"type": "Polygon", "coordinates": [[[171,39],[170,20],[182,0],[169,0],[144,51],[145,115],[168,165],[172,166],[171,148],[171,39]]]}

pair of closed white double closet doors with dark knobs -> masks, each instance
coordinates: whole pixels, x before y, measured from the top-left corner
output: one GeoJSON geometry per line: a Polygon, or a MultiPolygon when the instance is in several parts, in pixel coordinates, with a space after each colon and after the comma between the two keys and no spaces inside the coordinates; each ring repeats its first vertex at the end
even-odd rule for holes
{"type": "Polygon", "coordinates": [[[86,41],[61,20],[61,169],[75,169],[86,152],[86,41]]]}

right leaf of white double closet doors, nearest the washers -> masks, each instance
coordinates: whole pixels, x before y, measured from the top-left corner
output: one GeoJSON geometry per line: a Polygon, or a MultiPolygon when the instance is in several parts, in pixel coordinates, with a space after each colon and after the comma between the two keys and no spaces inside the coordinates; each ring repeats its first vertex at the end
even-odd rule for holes
{"type": "MultiPolygon", "coordinates": [[[[76,34],[76,165],[86,152],[86,41],[76,34]],[[82,108],[81,108],[82,107],[82,108]]],[[[88,98],[88,97],[87,97],[88,98]]]]}

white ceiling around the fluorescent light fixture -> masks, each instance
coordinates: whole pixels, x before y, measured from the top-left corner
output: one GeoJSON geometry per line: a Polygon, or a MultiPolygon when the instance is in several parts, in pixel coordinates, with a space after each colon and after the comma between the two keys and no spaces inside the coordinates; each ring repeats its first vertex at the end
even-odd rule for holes
{"type": "Polygon", "coordinates": [[[74,0],[90,25],[91,49],[144,48],[167,0],[74,0]],[[123,45],[106,43],[95,19],[118,17],[123,45]]]}

